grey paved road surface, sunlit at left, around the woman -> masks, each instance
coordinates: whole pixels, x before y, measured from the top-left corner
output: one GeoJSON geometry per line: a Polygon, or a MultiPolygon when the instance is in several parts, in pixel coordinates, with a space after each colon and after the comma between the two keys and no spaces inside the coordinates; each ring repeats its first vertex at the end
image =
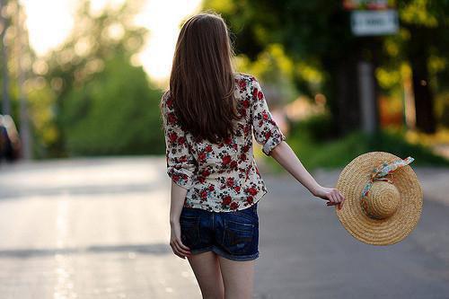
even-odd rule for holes
{"type": "MultiPolygon", "coordinates": [[[[261,171],[255,298],[448,298],[449,170],[414,168],[423,214],[400,243],[357,242],[289,173],[261,171]]],[[[339,171],[315,171],[333,186],[339,171]]],[[[163,157],[0,167],[1,298],[200,298],[172,254],[163,157]]]]}

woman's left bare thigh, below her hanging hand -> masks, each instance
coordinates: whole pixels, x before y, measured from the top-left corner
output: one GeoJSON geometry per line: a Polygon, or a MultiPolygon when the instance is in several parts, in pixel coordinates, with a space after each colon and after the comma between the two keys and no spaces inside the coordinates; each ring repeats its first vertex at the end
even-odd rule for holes
{"type": "Polygon", "coordinates": [[[195,277],[197,277],[203,298],[225,298],[225,286],[216,253],[207,251],[192,254],[188,259],[190,267],[193,269],[195,277]]]}

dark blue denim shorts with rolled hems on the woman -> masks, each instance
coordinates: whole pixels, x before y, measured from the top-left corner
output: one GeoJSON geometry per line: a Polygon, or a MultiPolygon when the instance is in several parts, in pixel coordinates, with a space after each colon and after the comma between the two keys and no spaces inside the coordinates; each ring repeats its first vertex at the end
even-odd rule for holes
{"type": "Polygon", "coordinates": [[[189,247],[192,254],[214,251],[226,259],[257,259],[259,257],[257,204],[231,212],[182,207],[181,242],[189,247]]]}

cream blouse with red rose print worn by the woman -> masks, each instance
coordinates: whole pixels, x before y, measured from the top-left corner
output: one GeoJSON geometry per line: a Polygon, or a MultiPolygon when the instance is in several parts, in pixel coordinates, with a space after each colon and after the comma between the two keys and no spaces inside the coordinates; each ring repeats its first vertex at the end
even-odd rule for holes
{"type": "Polygon", "coordinates": [[[252,152],[251,131],[268,156],[286,136],[272,118],[256,78],[236,73],[234,80],[237,109],[243,117],[236,134],[219,144],[195,139],[183,131],[169,92],[163,95],[167,174],[188,189],[184,207],[215,212],[240,210],[257,203],[268,191],[252,152]]]}

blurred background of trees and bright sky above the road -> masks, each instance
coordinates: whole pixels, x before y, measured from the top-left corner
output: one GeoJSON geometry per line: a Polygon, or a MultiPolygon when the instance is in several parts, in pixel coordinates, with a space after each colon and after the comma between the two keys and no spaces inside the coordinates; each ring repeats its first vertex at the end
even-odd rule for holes
{"type": "Polygon", "coordinates": [[[225,17],[237,70],[260,78],[307,166],[368,150],[448,165],[445,0],[3,0],[3,155],[163,154],[174,44],[205,9],[225,17]]]}

